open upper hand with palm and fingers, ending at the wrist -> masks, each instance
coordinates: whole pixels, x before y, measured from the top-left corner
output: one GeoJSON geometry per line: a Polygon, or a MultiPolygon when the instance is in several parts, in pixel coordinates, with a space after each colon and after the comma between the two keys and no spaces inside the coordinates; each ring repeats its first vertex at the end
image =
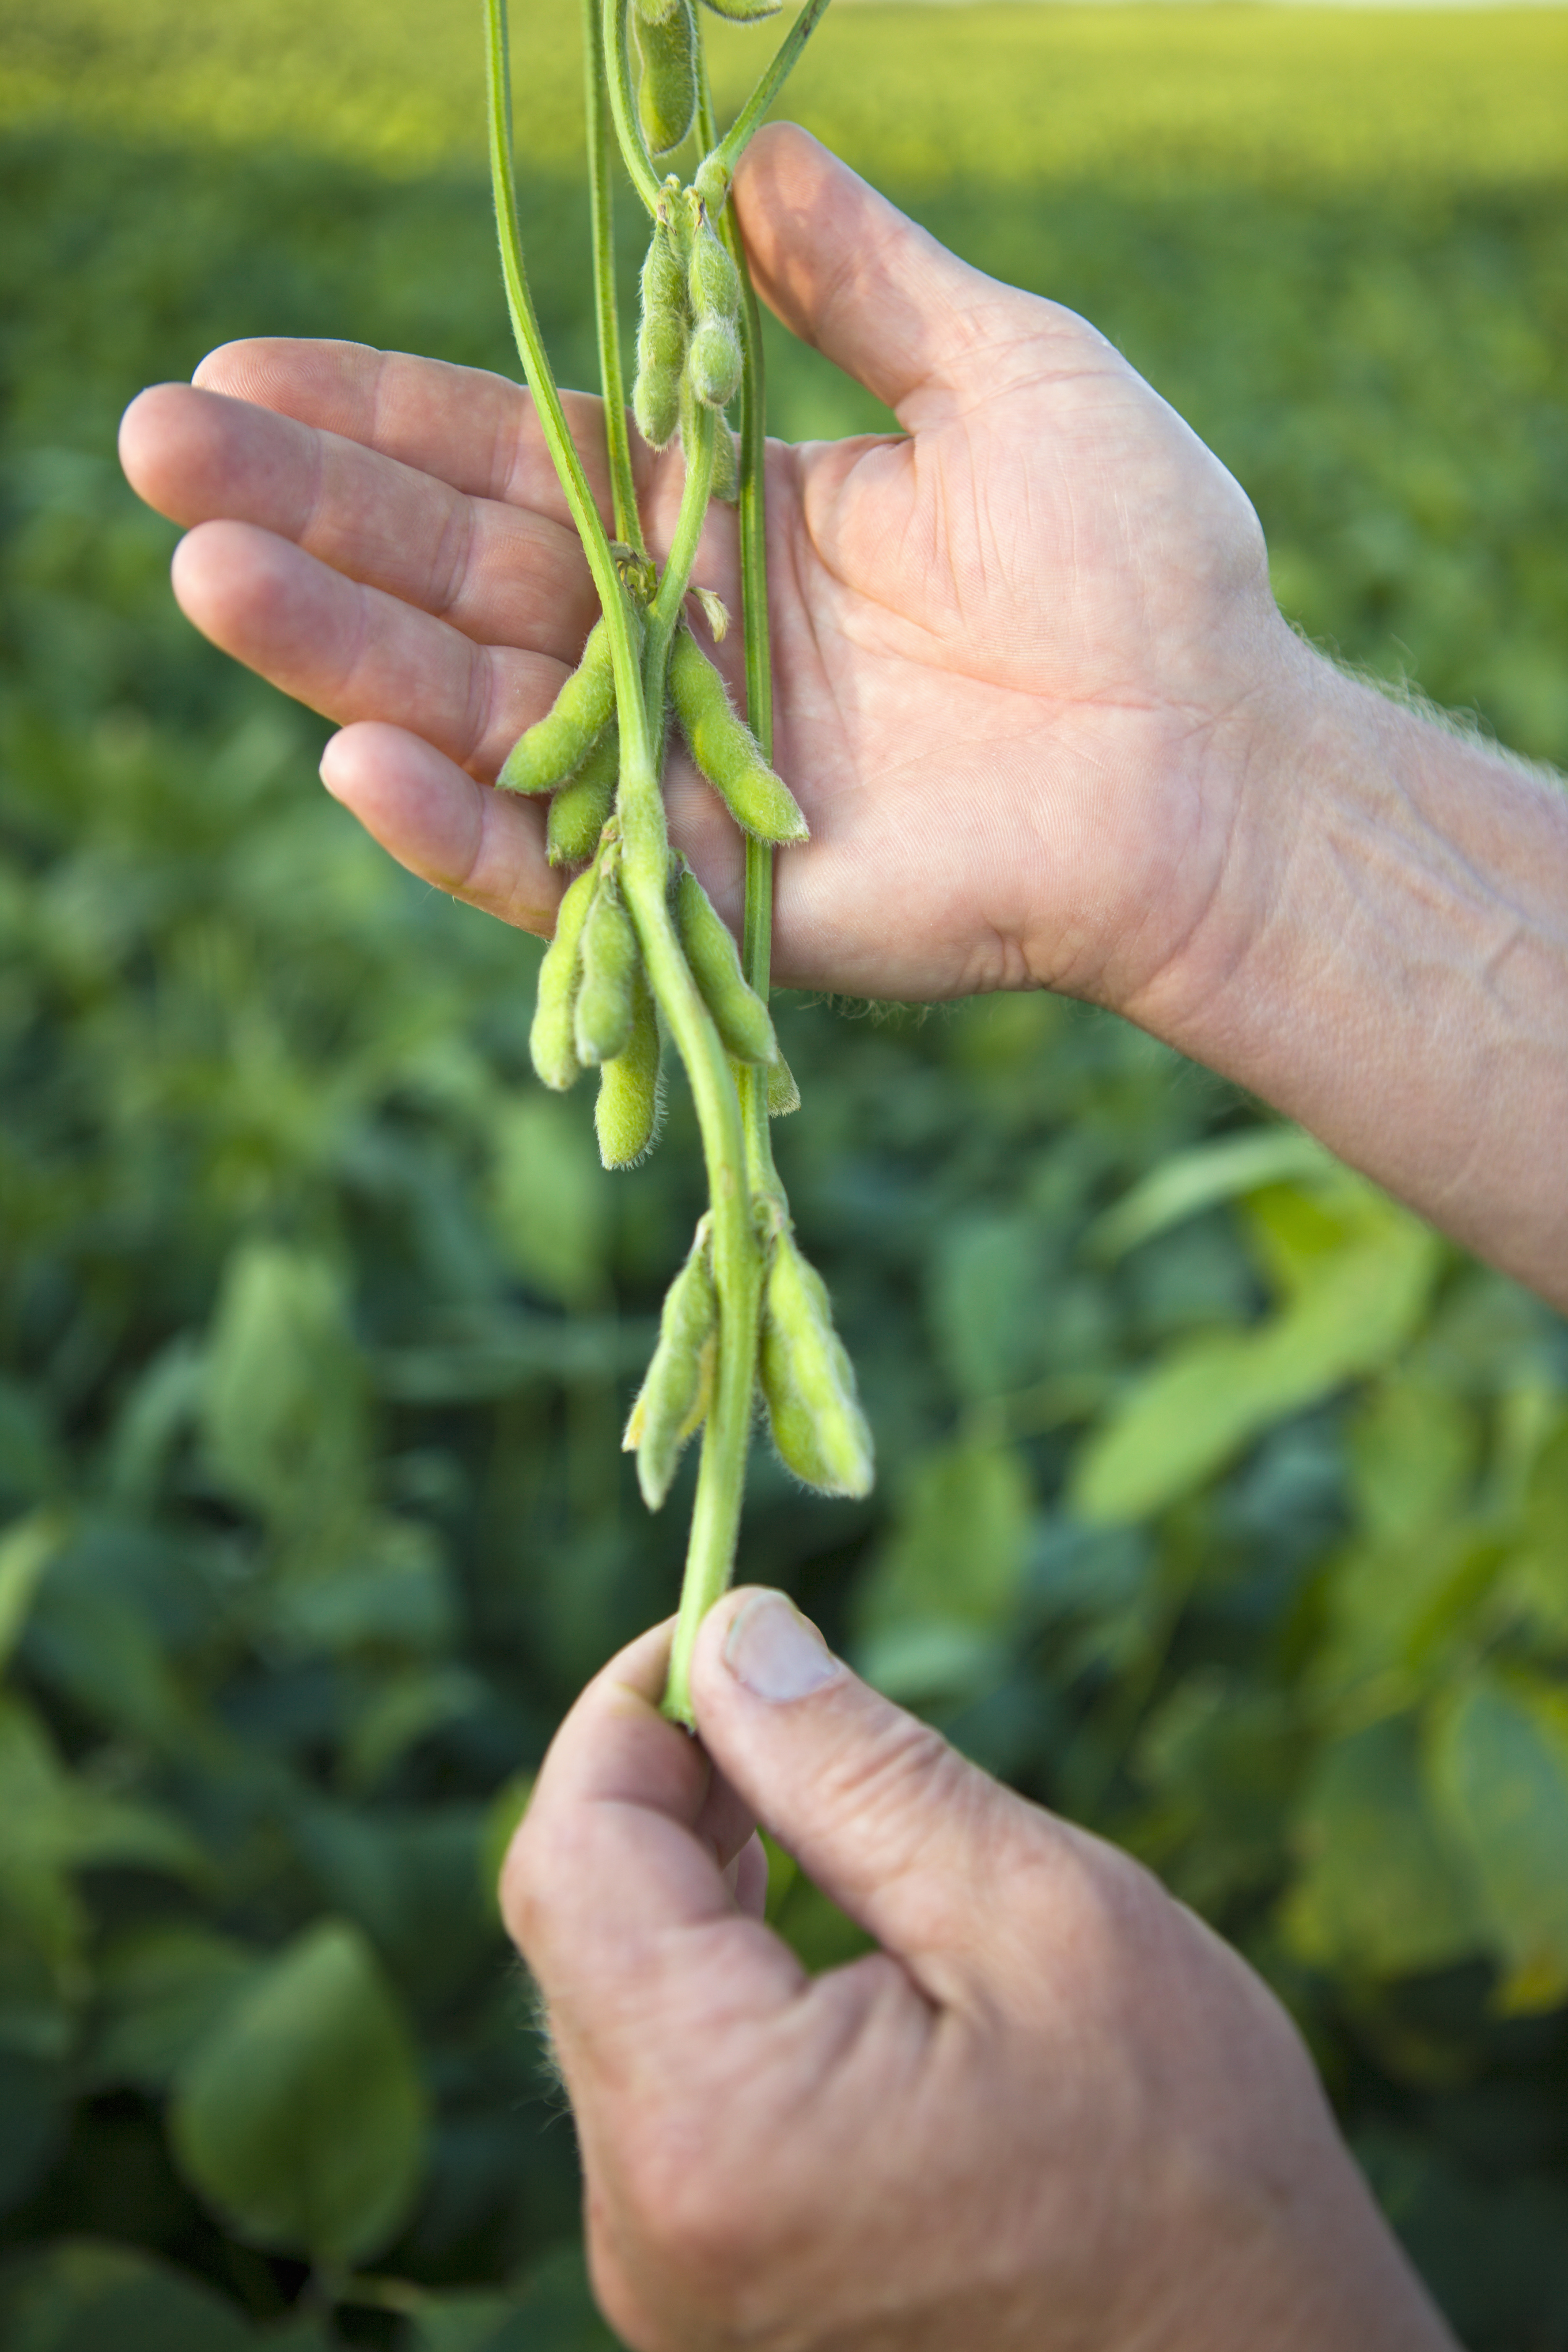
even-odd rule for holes
{"type": "MultiPolygon", "coordinates": [[[[945,254],[804,132],[736,186],[757,285],[903,437],[773,447],[776,974],[853,995],[1048,983],[1133,1009],[1215,903],[1281,623],[1222,466],[1072,313],[945,254]]],[[[597,407],[574,433],[604,487],[597,407]]],[[[353,343],[233,343],[122,428],[190,524],[190,619],[343,724],[322,774],[442,889],[529,929],[559,877],[489,790],[595,616],[517,386],[353,343]]],[[[639,452],[656,546],[679,456],[639,452]]],[[[733,517],[696,579],[736,602],[733,517]]],[[[731,675],[736,640],[724,647],[731,675]]],[[[722,906],[741,844],[677,757],[722,906]]]]}

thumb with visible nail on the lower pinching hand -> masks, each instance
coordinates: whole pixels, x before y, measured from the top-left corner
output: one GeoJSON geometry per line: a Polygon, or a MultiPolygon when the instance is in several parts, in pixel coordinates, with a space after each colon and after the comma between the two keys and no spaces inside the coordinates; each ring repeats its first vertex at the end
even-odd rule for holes
{"type": "Polygon", "coordinates": [[[783,1592],[710,1611],[691,1696],[736,1797],[917,1973],[994,1943],[997,1889],[1020,1867],[1081,1867],[1077,1832],[851,1675],[783,1592]]]}

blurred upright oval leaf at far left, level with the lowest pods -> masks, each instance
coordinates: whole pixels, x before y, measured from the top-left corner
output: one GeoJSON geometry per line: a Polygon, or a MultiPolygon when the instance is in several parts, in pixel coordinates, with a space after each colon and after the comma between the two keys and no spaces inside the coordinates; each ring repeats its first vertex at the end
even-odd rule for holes
{"type": "Polygon", "coordinates": [[[324,1258],[244,1242],[207,1348],[202,1435],[223,1486],[268,1519],[353,1498],[364,1383],[341,1282],[324,1258]]]}

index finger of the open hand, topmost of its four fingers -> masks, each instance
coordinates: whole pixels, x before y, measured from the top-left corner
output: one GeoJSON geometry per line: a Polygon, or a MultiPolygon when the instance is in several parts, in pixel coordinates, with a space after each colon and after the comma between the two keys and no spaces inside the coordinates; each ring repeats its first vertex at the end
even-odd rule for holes
{"type": "MultiPolygon", "coordinates": [[[[254,336],[209,350],[193,381],[364,442],[473,499],[505,499],[559,524],[571,520],[529,393],[489,369],[369,343],[254,336]]],[[[588,485],[609,517],[599,402],[564,393],[562,405],[588,485]]]]}

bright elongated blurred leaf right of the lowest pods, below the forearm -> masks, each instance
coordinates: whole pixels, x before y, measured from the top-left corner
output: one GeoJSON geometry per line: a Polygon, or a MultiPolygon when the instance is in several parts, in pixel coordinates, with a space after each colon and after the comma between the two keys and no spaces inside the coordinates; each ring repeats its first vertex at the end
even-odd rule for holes
{"type": "Polygon", "coordinates": [[[1375,1195],[1352,1237],[1342,1223],[1324,1228],[1314,1204],[1295,1207],[1300,1216],[1272,1225],[1279,1268],[1291,1263],[1291,1303],[1255,1331],[1173,1348],[1131,1390],[1072,1465],[1079,1517],[1114,1524],[1161,1510],[1276,1421],[1378,1371],[1406,1345],[1441,1261],[1436,1235],[1375,1195]],[[1316,1249],[1324,1230],[1333,1247],[1316,1249]]]}

